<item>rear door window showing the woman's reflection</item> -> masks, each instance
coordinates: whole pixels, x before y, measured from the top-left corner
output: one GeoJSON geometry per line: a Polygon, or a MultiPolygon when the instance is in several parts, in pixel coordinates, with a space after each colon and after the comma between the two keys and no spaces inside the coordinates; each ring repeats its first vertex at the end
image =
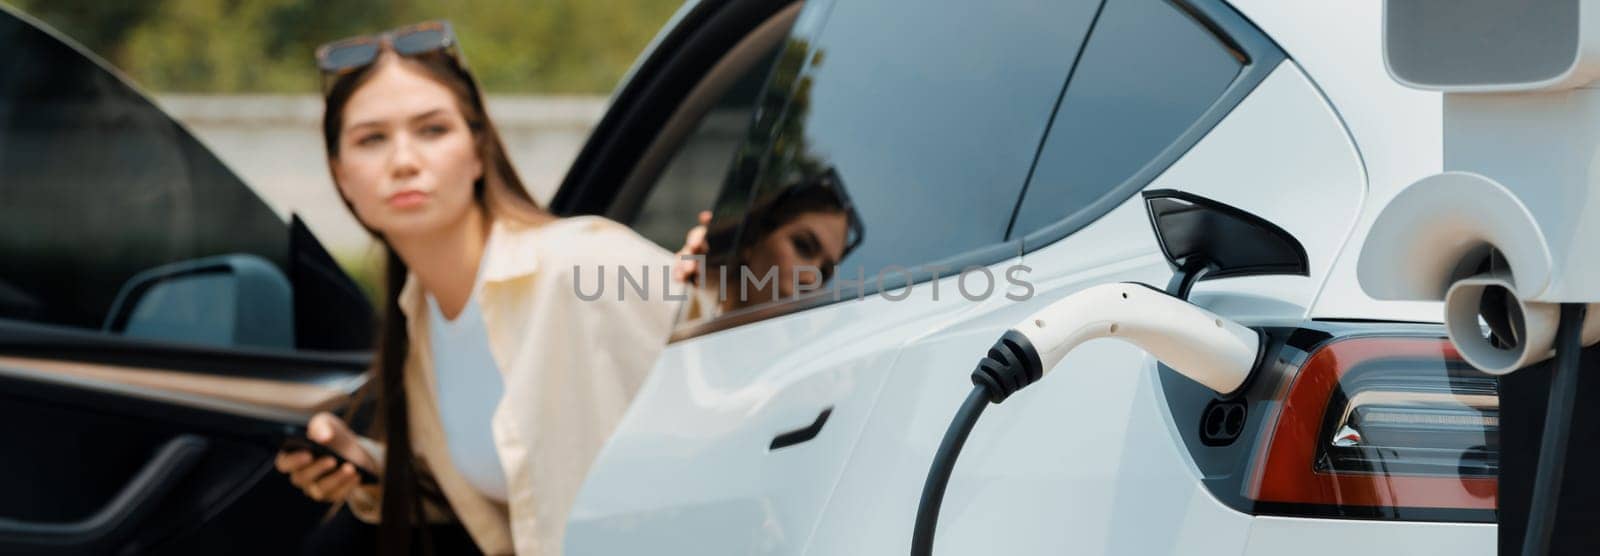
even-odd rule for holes
{"type": "Polygon", "coordinates": [[[822,8],[821,30],[779,54],[717,198],[701,294],[720,288],[694,320],[1005,259],[997,244],[1098,3],[808,5],[822,8]]]}

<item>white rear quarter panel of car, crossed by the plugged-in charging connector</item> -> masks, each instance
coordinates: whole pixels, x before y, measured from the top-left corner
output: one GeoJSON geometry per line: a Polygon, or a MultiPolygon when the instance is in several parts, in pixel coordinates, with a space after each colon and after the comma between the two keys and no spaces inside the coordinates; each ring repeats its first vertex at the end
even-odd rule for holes
{"type": "MultiPolygon", "coordinates": [[[[1310,276],[1202,281],[1195,300],[1248,324],[1306,318],[1365,192],[1339,120],[1294,64],[1282,64],[1149,189],[1182,189],[1282,225],[1310,276]]],[[[1032,300],[995,300],[902,350],[840,479],[810,554],[909,548],[923,470],[979,355],[1048,302],[1109,281],[1170,276],[1142,200],[1022,257],[1032,300]]],[[[1165,409],[1154,359],[1112,340],[1058,371],[973,430],[941,513],[939,553],[1237,554],[1251,516],[1200,483],[1165,409]],[[1005,530],[1006,534],[998,534],[1005,530]]]]}

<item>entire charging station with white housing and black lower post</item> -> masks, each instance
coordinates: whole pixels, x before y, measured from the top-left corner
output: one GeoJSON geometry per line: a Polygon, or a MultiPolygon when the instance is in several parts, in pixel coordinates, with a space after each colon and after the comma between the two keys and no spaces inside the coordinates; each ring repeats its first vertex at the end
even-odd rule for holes
{"type": "Polygon", "coordinates": [[[1597,553],[1600,2],[1386,0],[1384,62],[1443,93],[1445,168],[1379,214],[1362,288],[1443,302],[1501,375],[1499,551],[1597,553]]]}

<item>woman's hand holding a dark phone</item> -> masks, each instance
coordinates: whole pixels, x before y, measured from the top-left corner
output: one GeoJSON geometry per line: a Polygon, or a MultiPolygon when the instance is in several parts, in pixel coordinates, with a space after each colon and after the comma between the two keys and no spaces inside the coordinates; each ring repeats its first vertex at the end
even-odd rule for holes
{"type": "Polygon", "coordinates": [[[346,459],[339,465],[333,457],[314,457],[307,451],[280,451],[274,460],[278,471],[290,476],[290,483],[317,502],[341,502],[360,486],[362,478],[352,463],[366,470],[378,470],[378,462],[362,449],[350,427],[339,417],[318,412],[306,423],[306,436],[312,443],[326,446],[346,459]]]}

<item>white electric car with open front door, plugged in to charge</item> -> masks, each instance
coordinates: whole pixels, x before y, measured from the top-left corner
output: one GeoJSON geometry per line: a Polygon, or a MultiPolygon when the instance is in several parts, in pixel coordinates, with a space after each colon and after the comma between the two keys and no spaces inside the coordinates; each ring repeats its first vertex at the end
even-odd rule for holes
{"type": "MultiPolygon", "coordinates": [[[[995,340],[1126,281],[1256,331],[1256,371],[1219,393],[1080,345],[971,430],[934,553],[1494,553],[1526,506],[1501,454],[1538,439],[1515,380],[1440,304],[1358,281],[1446,166],[1446,102],[1386,72],[1381,10],[690,2],[550,201],[670,249],[714,209],[565,553],[907,553],[995,340]]],[[[107,66],[3,6],[0,43],[0,553],[296,550],[325,508],[270,459],[365,383],[371,307],[107,66]]]]}

